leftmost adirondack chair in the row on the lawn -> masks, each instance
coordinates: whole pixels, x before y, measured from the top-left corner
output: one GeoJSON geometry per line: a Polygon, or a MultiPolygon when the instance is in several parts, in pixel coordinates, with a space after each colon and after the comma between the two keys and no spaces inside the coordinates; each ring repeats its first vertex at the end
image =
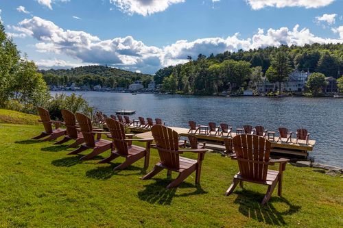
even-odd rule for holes
{"type": "Polygon", "coordinates": [[[45,131],[40,133],[39,136],[35,136],[32,139],[40,139],[44,138],[46,136],[49,136],[47,138],[44,138],[42,141],[51,141],[54,140],[60,136],[64,136],[67,132],[66,129],[60,129],[61,121],[51,121],[49,112],[43,108],[43,107],[37,107],[38,114],[40,116],[40,121],[43,123],[45,131]],[[55,125],[55,129],[52,129],[52,125],[55,125]]]}

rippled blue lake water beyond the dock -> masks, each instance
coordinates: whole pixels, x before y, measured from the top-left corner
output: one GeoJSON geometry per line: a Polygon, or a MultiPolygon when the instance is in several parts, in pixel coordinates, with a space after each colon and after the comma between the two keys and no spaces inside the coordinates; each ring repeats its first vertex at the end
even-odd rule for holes
{"type": "MultiPolygon", "coordinates": [[[[58,92],[51,92],[55,93],[58,92]]],[[[193,120],[198,124],[228,123],[234,129],[243,125],[263,125],[272,131],[281,126],[293,132],[305,128],[311,133],[310,138],[316,140],[310,156],[316,162],[343,166],[343,99],[75,93],[82,94],[95,110],[104,114],[115,114],[115,110],[136,110],[130,118],[162,118],[166,125],[173,127],[188,127],[188,121],[193,120]]]]}

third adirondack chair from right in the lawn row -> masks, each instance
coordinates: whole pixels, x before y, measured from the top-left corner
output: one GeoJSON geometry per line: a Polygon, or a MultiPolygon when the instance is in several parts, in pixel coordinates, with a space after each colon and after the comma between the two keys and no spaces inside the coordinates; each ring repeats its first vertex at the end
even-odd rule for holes
{"type": "MultiPolygon", "coordinates": [[[[111,138],[113,139],[113,144],[115,144],[115,150],[110,153],[109,157],[106,157],[99,163],[106,163],[114,160],[117,157],[125,157],[126,160],[119,166],[116,166],[114,170],[123,169],[134,162],[137,162],[141,158],[145,157],[144,159],[144,168],[149,166],[149,158],[150,158],[150,144],[153,138],[147,139],[132,139],[126,138],[125,134],[125,127],[119,121],[115,121],[111,118],[106,119],[107,127],[110,130],[111,138]],[[138,147],[135,145],[129,144],[128,142],[132,141],[139,141],[139,142],[146,142],[146,147],[138,147]]],[[[131,135],[130,135],[131,136],[131,135]]]]}

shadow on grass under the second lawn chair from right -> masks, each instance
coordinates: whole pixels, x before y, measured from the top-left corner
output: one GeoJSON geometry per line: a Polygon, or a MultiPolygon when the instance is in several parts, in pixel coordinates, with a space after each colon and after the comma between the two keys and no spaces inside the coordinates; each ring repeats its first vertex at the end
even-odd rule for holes
{"type": "Polygon", "coordinates": [[[169,188],[167,189],[166,186],[173,180],[170,177],[166,179],[154,179],[156,182],[150,183],[145,185],[145,190],[138,192],[138,197],[142,201],[147,201],[148,203],[152,204],[159,204],[159,205],[171,205],[171,201],[173,201],[174,197],[188,197],[190,195],[195,194],[207,194],[208,192],[204,191],[200,184],[192,184],[187,182],[180,183],[180,186],[177,188],[169,188]],[[178,188],[196,188],[195,191],[184,193],[184,194],[176,194],[176,190],[178,188]]]}

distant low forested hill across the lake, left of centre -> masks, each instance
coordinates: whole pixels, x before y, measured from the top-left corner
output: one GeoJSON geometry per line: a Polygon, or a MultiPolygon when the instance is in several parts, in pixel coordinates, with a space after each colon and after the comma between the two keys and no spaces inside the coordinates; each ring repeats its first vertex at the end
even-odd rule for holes
{"type": "Polygon", "coordinates": [[[89,88],[96,85],[108,88],[127,88],[133,81],[141,80],[145,87],[152,81],[151,75],[123,71],[108,66],[80,66],[67,70],[50,69],[39,72],[43,74],[45,82],[49,86],[67,86],[75,83],[76,86],[88,86],[89,88]]]}

